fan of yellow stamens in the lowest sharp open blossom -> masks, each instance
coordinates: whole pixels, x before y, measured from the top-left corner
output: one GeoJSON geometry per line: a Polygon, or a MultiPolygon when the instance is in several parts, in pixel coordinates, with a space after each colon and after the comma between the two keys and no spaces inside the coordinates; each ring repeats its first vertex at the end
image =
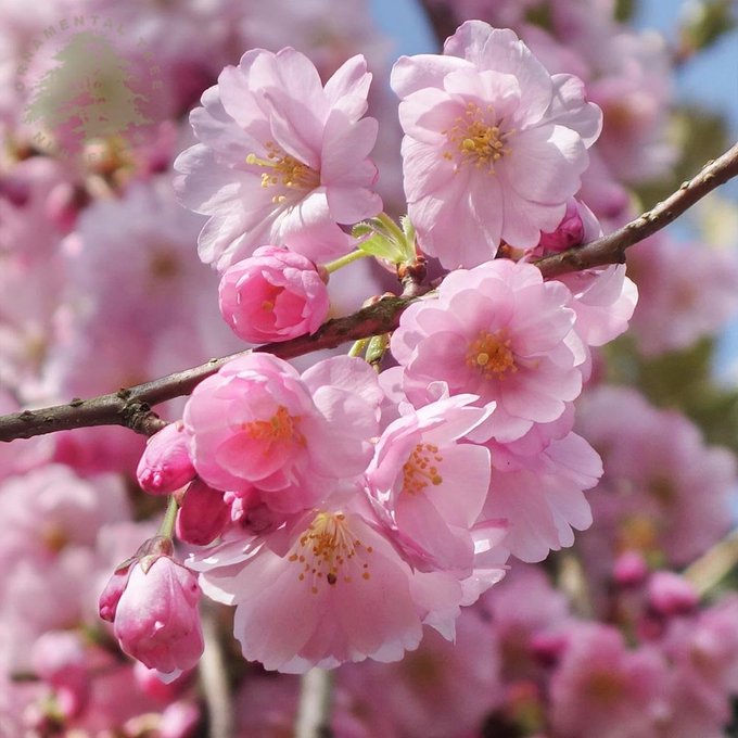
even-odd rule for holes
{"type": "Polygon", "coordinates": [[[297,578],[304,582],[309,577],[310,591],[317,595],[323,585],[349,584],[357,574],[361,580],[370,578],[367,557],[372,551],[352,533],[342,512],[319,512],[288,561],[300,564],[297,578]]]}

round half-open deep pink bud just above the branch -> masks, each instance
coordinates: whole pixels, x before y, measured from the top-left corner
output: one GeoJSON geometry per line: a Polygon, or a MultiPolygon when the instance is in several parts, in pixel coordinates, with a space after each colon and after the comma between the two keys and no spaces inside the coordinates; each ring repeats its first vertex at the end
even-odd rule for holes
{"type": "Polygon", "coordinates": [[[262,246],[220,280],[220,313],[244,341],[288,341],[314,333],[326,319],[328,290],[305,256],[262,246]]]}

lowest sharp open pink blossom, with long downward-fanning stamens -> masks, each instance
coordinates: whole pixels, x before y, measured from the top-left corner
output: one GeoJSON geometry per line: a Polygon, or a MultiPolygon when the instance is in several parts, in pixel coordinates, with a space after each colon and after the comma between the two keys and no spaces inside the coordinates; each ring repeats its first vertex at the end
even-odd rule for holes
{"type": "Polygon", "coordinates": [[[396,661],[422,636],[409,565],[355,512],[308,511],[190,563],[208,597],[237,606],[243,656],[269,670],[396,661]]]}

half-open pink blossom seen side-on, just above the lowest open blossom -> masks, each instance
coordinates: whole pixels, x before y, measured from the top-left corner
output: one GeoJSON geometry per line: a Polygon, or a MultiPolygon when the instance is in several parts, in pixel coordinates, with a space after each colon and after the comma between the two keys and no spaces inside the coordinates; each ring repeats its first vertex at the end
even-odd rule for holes
{"type": "Polygon", "coordinates": [[[489,412],[468,407],[475,399],[456,395],[395,420],[367,470],[380,521],[421,571],[472,572],[471,529],[489,486],[489,451],[457,442],[489,412]]]}

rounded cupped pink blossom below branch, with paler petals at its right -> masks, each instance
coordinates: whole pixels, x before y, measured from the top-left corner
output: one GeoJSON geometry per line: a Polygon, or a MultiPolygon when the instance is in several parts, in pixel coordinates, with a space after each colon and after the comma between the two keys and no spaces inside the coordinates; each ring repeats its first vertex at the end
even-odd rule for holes
{"type": "Polygon", "coordinates": [[[257,487],[275,510],[296,512],[364,472],[381,397],[358,358],[326,359],[302,377],[267,354],[234,359],[184,408],[194,467],[217,489],[257,487]]]}

